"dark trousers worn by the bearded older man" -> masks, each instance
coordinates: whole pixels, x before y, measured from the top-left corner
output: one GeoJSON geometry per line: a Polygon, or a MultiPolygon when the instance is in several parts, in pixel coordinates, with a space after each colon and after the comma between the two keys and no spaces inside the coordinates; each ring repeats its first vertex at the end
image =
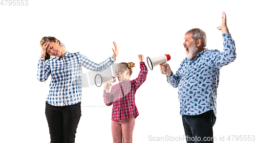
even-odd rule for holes
{"type": "Polygon", "coordinates": [[[199,115],[182,115],[182,122],[188,143],[214,142],[212,127],[216,117],[212,110],[199,115]]]}

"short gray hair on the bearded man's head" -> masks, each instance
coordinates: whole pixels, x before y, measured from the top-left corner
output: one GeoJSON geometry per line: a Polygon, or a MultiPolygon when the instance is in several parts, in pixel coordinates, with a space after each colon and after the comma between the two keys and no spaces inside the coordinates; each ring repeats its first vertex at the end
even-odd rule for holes
{"type": "Polygon", "coordinates": [[[185,35],[192,33],[191,37],[194,41],[201,39],[202,41],[202,46],[206,47],[206,43],[207,43],[207,37],[206,37],[206,33],[199,29],[199,28],[194,28],[194,29],[190,29],[188,30],[185,35]]]}

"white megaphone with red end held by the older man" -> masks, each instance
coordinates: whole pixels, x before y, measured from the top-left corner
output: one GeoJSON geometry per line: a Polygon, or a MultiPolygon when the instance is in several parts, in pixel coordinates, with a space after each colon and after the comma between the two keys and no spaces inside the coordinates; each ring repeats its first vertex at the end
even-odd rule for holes
{"type": "Polygon", "coordinates": [[[155,57],[155,58],[147,57],[146,60],[147,60],[148,67],[150,67],[150,69],[153,70],[153,67],[155,67],[156,65],[165,63],[168,60],[170,60],[170,55],[165,54],[164,56],[155,57]]]}

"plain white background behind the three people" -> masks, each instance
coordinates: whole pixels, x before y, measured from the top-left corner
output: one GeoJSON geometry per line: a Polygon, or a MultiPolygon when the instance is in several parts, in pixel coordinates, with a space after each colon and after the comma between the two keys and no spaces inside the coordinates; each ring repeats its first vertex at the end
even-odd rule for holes
{"type": "MultiPolygon", "coordinates": [[[[5,3],[5,2],[4,2],[5,3]]],[[[255,133],[255,8],[253,1],[28,1],[28,6],[0,5],[1,134],[0,142],[50,142],[45,117],[49,82],[36,78],[39,41],[54,36],[69,52],[80,52],[94,62],[110,57],[112,41],[118,62],[135,62],[138,55],[170,54],[174,73],[185,58],[184,33],[200,28],[207,48],[223,51],[222,12],[236,42],[237,59],[221,68],[217,99],[216,142],[220,136],[255,133]]],[[[8,4],[7,4],[8,5],[8,4]]],[[[83,68],[85,69],[85,68],[83,68]]],[[[177,88],[171,87],[159,66],[150,70],[136,92],[139,116],[134,142],[152,137],[184,135],[177,88]]],[[[112,142],[111,107],[104,105],[101,87],[83,88],[82,116],[76,142],[112,142]]],[[[232,138],[231,138],[232,139],[232,138]]],[[[230,140],[231,141],[231,140],[230,140]]],[[[185,141],[175,141],[185,142],[185,141]]],[[[232,142],[252,142],[235,141],[232,142]]]]}

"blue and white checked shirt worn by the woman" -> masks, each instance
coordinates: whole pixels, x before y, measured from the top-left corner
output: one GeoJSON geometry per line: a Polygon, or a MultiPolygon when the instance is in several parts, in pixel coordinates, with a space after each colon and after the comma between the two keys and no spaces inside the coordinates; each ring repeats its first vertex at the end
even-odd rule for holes
{"type": "Polygon", "coordinates": [[[52,106],[66,106],[81,102],[81,65],[93,71],[102,71],[114,63],[110,57],[100,64],[94,63],[80,53],[67,52],[62,58],[55,57],[46,62],[39,58],[37,79],[46,81],[51,75],[47,102],[52,106]]]}

